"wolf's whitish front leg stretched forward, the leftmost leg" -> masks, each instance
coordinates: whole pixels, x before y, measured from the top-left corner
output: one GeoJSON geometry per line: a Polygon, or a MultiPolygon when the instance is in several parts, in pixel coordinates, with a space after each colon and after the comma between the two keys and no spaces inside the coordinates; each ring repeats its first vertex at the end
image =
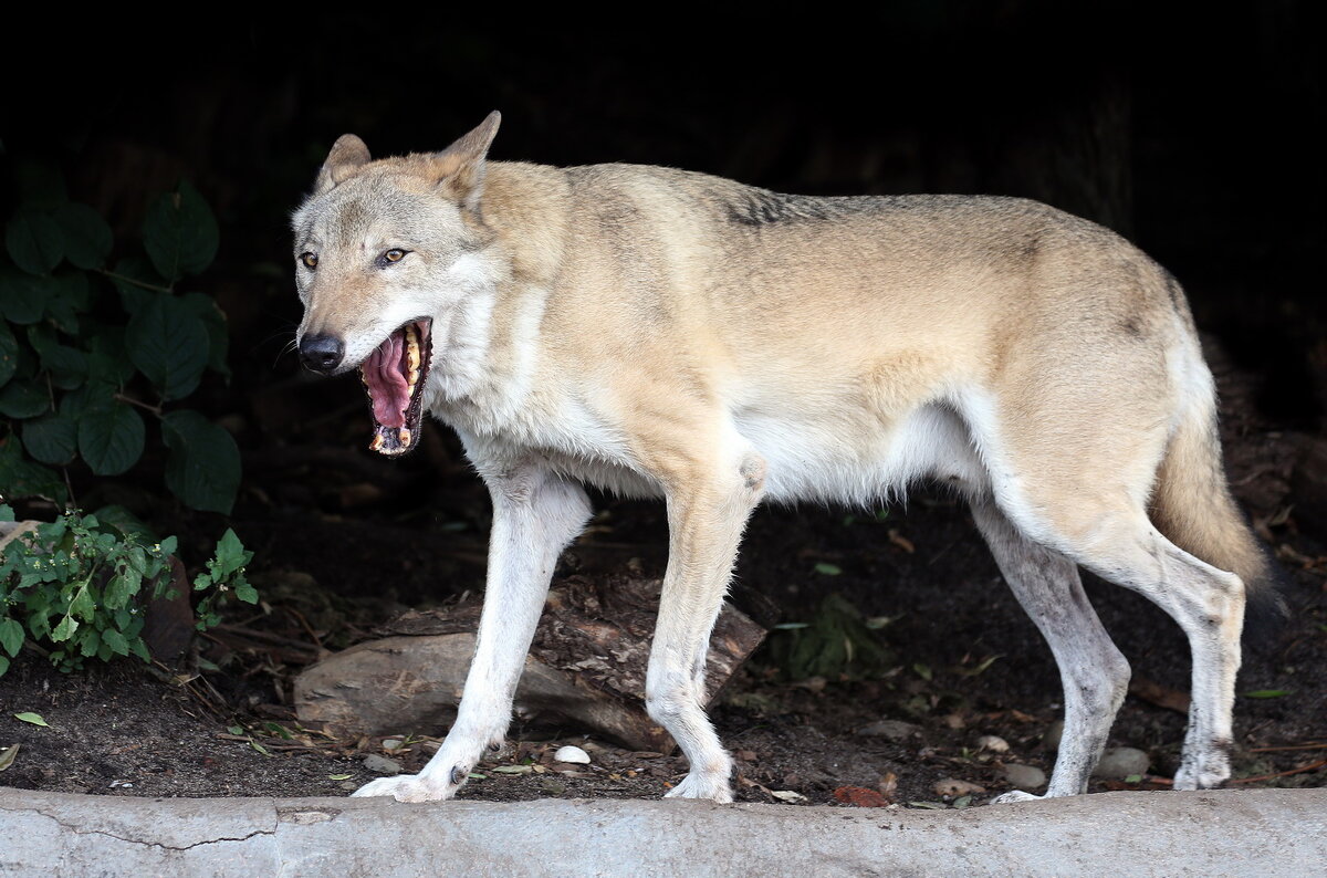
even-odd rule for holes
{"type": "Polygon", "coordinates": [[[488,582],[456,721],[422,772],[372,781],[356,796],[405,802],[451,798],[484,749],[500,747],[507,733],[553,566],[585,527],[591,507],[580,485],[532,466],[484,473],[484,481],[494,501],[488,582]]]}

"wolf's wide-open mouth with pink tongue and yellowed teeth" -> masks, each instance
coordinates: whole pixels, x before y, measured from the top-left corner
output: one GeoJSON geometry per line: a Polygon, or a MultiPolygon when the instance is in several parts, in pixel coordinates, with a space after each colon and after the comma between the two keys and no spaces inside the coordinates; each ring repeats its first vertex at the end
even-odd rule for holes
{"type": "Polygon", "coordinates": [[[419,442],[423,420],[423,383],[433,358],[433,320],[413,320],[387,336],[360,366],[360,378],[373,410],[369,448],[387,456],[402,455],[419,442]]]}

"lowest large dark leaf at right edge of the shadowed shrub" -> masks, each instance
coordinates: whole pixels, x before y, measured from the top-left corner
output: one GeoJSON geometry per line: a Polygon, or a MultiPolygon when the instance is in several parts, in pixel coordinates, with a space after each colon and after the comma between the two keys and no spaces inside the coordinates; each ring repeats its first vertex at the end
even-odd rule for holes
{"type": "Polygon", "coordinates": [[[171,451],[166,487],[194,509],[230,515],[240,487],[240,450],[231,434],[186,408],[162,418],[162,438],[171,451]]]}

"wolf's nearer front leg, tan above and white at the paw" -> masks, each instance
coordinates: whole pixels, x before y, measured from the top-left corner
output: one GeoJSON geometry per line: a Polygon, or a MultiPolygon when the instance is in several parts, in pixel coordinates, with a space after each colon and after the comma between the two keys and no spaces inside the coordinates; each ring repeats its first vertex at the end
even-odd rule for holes
{"type": "Polygon", "coordinates": [[[733,801],[733,759],[705,715],[705,659],[746,520],[759,503],[764,463],[751,455],[697,473],[667,493],[669,560],[645,680],[645,706],[686,755],[670,797],[733,801]]]}

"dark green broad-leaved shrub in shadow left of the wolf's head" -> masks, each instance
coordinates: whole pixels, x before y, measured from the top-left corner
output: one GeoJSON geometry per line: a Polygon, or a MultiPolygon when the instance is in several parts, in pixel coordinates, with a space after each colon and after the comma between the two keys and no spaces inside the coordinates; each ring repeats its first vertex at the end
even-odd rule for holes
{"type": "Polygon", "coordinates": [[[226,316],[180,289],[211,264],[216,219],[182,182],[157,198],[141,253],[110,263],[110,225],[70,202],[54,167],[19,164],[20,203],[0,256],[0,492],[72,500],[68,473],[127,472],[159,424],[166,484],[195,509],[230,512],[240,456],[231,435],[179,408],[204,371],[228,377],[226,316]]]}

